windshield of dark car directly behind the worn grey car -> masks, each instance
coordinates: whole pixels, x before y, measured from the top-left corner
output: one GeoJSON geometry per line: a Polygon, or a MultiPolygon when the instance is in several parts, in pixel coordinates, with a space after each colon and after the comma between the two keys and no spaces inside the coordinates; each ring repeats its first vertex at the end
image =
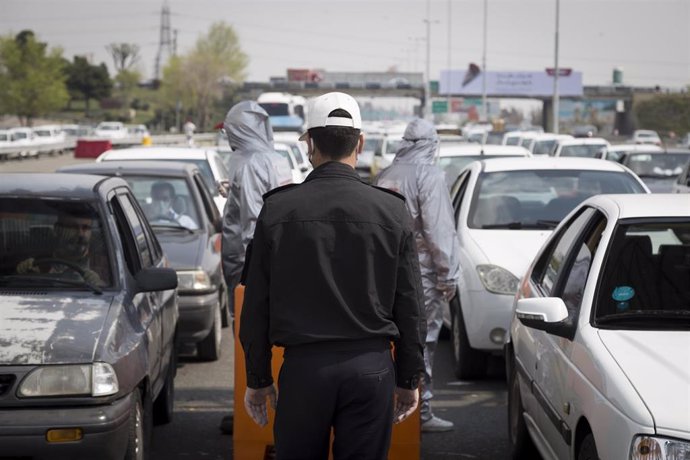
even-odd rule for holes
{"type": "Polygon", "coordinates": [[[199,228],[199,210],[189,183],[178,177],[125,176],[151,226],[199,228]]]}

